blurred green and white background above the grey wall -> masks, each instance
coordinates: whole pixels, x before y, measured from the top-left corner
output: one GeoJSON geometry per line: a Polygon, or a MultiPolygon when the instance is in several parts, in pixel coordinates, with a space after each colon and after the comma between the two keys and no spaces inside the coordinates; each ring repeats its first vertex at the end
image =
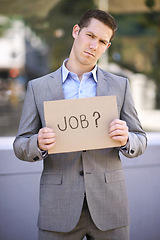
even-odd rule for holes
{"type": "Polygon", "coordinates": [[[109,11],[118,23],[100,67],[129,78],[144,129],[160,131],[159,0],[1,0],[1,136],[16,134],[27,82],[61,66],[73,25],[90,8],[109,11]]]}

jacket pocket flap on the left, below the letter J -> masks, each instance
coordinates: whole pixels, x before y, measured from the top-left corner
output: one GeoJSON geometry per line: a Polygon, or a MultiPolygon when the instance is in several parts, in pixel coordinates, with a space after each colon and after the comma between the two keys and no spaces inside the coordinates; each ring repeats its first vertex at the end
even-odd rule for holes
{"type": "Polygon", "coordinates": [[[41,177],[41,185],[60,185],[62,184],[62,174],[43,174],[41,177]]]}

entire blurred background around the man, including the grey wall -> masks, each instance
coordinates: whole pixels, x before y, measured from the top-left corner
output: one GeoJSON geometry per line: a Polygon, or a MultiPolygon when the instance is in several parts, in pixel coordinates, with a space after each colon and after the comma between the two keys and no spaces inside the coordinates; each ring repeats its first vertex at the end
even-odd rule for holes
{"type": "Polygon", "coordinates": [[[131,240],[160,239],[160,0],[0,0],[0,240],[37,240],[42,161],[13,153],[26,86],[68,57],[72,27],[100,8],[118,31],[98,65],[129,79],[148,136],[145,153],[121,156],[131,216],[131,240]]]}

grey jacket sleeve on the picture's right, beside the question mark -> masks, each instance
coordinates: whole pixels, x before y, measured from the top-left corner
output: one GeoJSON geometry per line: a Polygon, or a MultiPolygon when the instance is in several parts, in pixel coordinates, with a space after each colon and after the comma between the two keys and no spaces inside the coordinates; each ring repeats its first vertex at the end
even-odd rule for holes
{"type": "Polygon", "coordinates": [[[128,79],[126,79],[125,97],[120,119],[126,121],[129,128],[129,141],[125,147],[120,147],[120,151],[129,158],[141,155],[147,146],[147,137],[138,119],[128,79]]]}

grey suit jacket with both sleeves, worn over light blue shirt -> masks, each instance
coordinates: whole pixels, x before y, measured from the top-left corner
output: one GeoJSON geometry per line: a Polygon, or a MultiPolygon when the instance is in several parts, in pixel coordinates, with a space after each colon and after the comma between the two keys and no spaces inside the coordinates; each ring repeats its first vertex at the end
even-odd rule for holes
{"type": "MultiPolygon", "coordinates": [[[[97,96],[117,96],[119,118],[129,127],[128,148],[48,155],[44,159],[40,181],[38,226],[41,229],[72,230],[80,218],[84,192],[92,219],[99,229],[106,231],[129,224],[119,151],[129,158],[137,157],[145,150],[146,135],[134,108],[128,80],[100,68],[97,76],[97,96]],[[80,174],[82,170],[84,175],[80,174]]],[[[61,68],[29,82],[14,142],[15,154],[21,160],[34,162],[42,159],[37,147],[37,133],[45,126],[43,102],[59,99],[64,99],[61,68]]]]}

